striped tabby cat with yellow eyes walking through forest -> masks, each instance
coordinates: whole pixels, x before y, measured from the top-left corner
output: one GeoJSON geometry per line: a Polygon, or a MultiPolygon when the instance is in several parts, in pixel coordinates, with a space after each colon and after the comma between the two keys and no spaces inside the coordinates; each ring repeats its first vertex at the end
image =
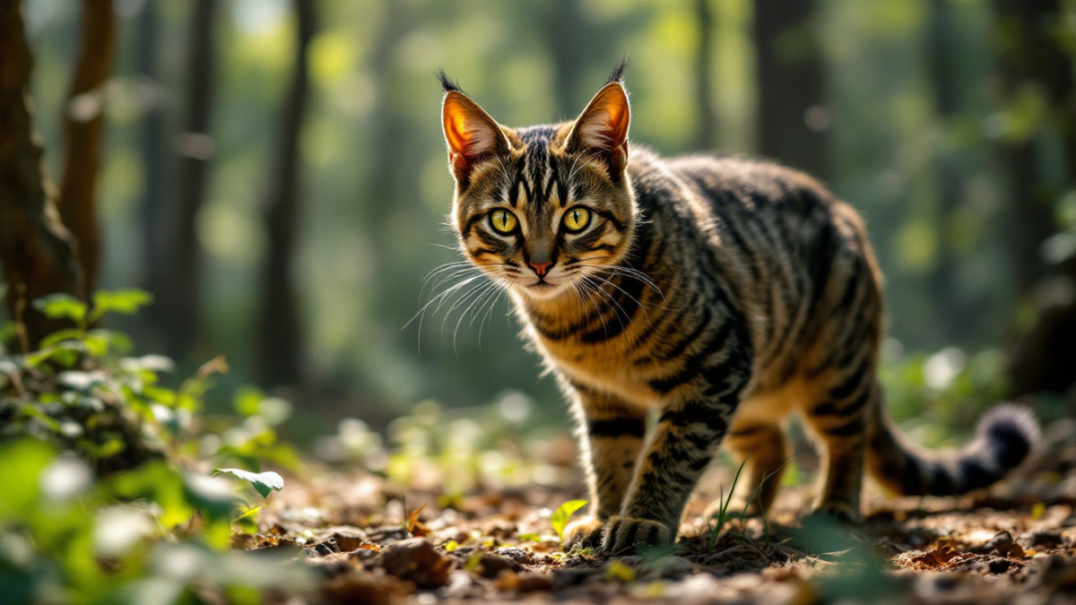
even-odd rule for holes
{"type": "Polygon", "coordinates": [[[824,454],[816,512],[841,520],[860,518],[864,464],[897,493],[946,495],[1027,456],[1037,424],[1011,406],[954,454],[909,444],[882,407],[882,278],[855,211],[773,164],[629,145],[622,72],[575,122],[528,128],[441,74],[459,245],[507,289],[578,421],[591,511],[569,544],[671,543],[722,442],[765,510],[792,411],[824,454]]]}

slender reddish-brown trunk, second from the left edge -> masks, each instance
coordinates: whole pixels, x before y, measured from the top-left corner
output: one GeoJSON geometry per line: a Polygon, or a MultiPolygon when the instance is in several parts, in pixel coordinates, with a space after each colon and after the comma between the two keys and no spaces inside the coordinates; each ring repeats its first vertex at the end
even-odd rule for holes
{"type": "Polygon", "coordinates": [[[115,51],[112,0],[84,0],[79,52],[63,105],[63,169],[56,206],[76,242],[83,292],[89,299],[101,265],[97,174],[104,133],[105,89],[115,51]]]}

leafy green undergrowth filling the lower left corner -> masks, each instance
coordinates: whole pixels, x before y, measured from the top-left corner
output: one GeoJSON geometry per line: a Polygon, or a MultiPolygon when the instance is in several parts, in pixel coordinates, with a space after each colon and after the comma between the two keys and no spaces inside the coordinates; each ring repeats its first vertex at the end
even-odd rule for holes
{"type": "Polygon", "coordinates": [[[277,473],[226,464],[296,467],[274,428],[291,406],[242,389],[241,419],[208,416],[203,397],[227,371],[223,358],[171,388],[170,360],[130,356],[125,335],[89,327],[148,301],[136,290],[99,292],[93,307],[47,296],[34,307],[76,327],[27,354],[0,350],[5,602],[192,601],[196,589],[257,602],[261,590],[311,586],[305,565],[229,551],[233,530],[257,531],[260,507],[206,473],[221,466],[261,497],[281,490],[277,473]]]}

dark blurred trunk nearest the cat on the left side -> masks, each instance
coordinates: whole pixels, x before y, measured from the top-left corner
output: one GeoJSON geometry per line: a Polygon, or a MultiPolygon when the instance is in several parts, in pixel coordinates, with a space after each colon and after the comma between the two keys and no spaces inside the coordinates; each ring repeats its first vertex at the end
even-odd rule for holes
{"type": "Polygon", "coordinates": [[[299,135],[310,93],[308,48],[317,24],[312,0],[294,0],[294,6],[298,28],[295,71],[281,111],[275,157],[267,179],[272,185],[263,216],[269,245],[256,339],[257,371],[267,386],[302,381],[303,339],[293,261],[299,215],[299,135]]]}

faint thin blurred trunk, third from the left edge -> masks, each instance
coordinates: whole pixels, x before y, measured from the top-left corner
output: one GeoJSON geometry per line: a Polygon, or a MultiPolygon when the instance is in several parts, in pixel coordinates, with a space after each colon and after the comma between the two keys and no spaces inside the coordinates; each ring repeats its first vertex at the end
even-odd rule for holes
{"type": "MultiPolygon", "coordinates": [[[[136,39],[132,50],[134,64],[142,85],[153,93],[148,95],[142,114],[139,158],[142,161],[142,200],[139,216],[139,235],[142,239],[142,287],[160,294],[168,272],[165,267],[165,244],[161,241],[164,225],[165,178],[165,111],[160,78],[160,14],[157,2],[147,0],[138,16],[134,28],[136,39]]],[[[159,298],[158,298],[159,299],[159,298]]],[[[156,333],[162,325],[160,304],[145,311],[146,328],[156,333]]]]}

